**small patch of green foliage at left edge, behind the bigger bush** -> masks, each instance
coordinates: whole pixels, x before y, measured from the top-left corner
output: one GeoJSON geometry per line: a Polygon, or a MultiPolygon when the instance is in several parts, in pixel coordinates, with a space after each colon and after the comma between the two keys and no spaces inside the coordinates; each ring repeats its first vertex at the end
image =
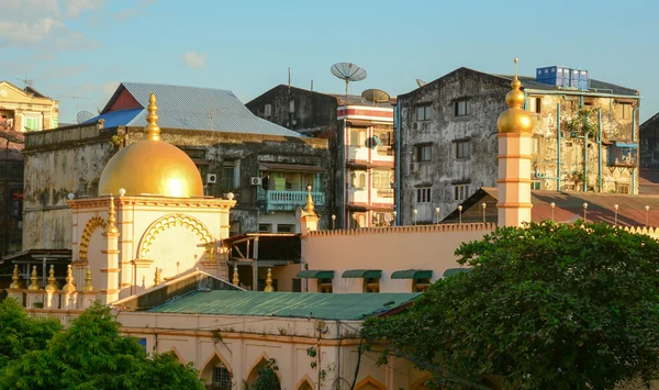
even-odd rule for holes
{"type": "Polygon", "coordinates": [[[56,319],[29,316],[13,299],[0,302],[0,369],[23,354],[45,348],[60,331],[62,324],[56,319]]]}

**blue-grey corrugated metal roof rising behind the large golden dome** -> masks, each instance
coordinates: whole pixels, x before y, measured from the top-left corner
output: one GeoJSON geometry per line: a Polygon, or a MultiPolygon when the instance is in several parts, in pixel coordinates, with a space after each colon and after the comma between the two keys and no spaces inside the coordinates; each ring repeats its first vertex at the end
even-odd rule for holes
{"type": "MultiPolygon", "coordinates": [[[[125,88],[143,108],[148,105],[150,93],[155,93],[158,100],[158,125],[164,129],[303,137],[298,132],[254,115],[228,90],[145,82],[122,82],[118,91],[122,88],[125,88]]],[[[112,99],[119,94],[115,92],[112,99]]],[[[111,107],[110,103],[105,105],[102,115],[110,114],[107,112],[109,107],[111,107]]],[[[146,125],[146,110],[141,110],[130,120],[127,120],[127,111],[133,110],[115,111],[126,114],[126,116],[121,116],[123,123],[118,125],[146,125]]],[[[102,115],[92,119],[91,122],[96,122],[102,115]]],[[[111,118],[114,119],[114,116],[111,118]]],[[[110,125],[105,123],[105,127],[110,127],[110,125]]]]}

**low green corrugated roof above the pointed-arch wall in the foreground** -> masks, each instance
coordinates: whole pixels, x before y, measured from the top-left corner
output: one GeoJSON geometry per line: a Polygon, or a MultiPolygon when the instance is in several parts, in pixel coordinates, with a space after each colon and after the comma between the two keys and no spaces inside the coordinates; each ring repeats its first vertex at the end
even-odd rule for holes
{"type": "Polygon", "coordinates": [[[149,312],[360,320],[387,312],[418,296],[213,290],[181,297],[149,312]]]}

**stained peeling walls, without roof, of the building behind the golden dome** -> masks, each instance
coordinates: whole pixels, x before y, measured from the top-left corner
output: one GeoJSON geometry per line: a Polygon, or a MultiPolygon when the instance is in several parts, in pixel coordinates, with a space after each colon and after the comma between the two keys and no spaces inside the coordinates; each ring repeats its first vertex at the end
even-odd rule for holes
{"type": "MultiPolygon", "coordinates": [[[[165,142],[192,157],[206,185],[206,194],[235,194],[238,203],[231,214],[234,234],[258,230],[264,207],[257,202],[257,186],[252,186],[249,179],[259,177],[259,163],[320,166],[325,169],[321,176],[322,189],[327,199],[333,198],[326,140],[178,129],[163,129],[161,135],[165,142]],[[227,164],[234,167],[235,176],[225,180],[227,164]],[[209,174],[216,175],[216,183],[206,183],[209,174]]],[[[70,248],[67,194],[96,197],[108,160],[120,148],[142,137],[142,127],[101,129],[97,125],[27,134],[23,248],[70,248]]],[[[323,212],[323,208],[319,211],[323,212]]],[[[323,224],[324,220],[321,220],[323,224]]]]}

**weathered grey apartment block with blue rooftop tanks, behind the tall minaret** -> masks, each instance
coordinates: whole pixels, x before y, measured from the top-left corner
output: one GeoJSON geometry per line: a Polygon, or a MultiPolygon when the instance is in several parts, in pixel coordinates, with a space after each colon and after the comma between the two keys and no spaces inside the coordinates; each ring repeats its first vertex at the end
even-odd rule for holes
{"type": "MultiPolygon", "coordinates": [[[[511,80],[459,68],[399,96],[401,223],[435,223],[496,185],[496,116],[511,80]]],[[[520,80],[534,120],[533,189],[638,193],[637,90],[594,79],[520,80]]]]}

